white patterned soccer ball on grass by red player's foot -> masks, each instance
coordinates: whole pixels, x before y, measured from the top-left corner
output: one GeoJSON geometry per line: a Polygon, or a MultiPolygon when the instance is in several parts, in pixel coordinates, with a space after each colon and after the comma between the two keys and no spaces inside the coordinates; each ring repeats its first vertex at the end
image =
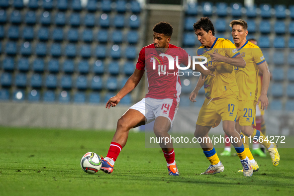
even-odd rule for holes
{"type": "Polygon", "coordinates": [[[101,164],[101,159],[95,152],[87,152],[81,159],[81,167],[88,174],[98,172],[101,164]]]}

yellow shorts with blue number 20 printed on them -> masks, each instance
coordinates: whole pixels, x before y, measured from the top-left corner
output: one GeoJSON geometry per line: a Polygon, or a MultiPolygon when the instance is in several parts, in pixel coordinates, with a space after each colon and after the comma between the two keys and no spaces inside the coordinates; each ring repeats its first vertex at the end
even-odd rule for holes
{"type": "Polygon", "coordinates": [[[237,121],[241,126],[255,125],[256,101],[239,100],[237,121]]]}

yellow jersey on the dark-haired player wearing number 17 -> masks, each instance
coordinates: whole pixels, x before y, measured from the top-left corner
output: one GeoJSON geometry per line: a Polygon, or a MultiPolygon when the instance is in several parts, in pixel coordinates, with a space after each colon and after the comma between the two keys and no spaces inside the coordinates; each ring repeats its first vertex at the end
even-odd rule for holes
{"type": "Polygon", "coordinates": [[[208,53],[213,52],[229,58],[235,58],[240,54],[230,40],[223,38],[216,38],[210,49],[204,46],[200,46],[197,49],[197,56],[204,56],[207,58],[207,63],[204,65],[206,67],[210,65],[215,67],[215,71],[213,72],[215,76],[208,75],[204,81],[205,97],[208,99],[219,98],[228,90],[232,90],[233,92],[239,91],[236,83],[234,66],[223,62],[212,62],[208,53]]]}

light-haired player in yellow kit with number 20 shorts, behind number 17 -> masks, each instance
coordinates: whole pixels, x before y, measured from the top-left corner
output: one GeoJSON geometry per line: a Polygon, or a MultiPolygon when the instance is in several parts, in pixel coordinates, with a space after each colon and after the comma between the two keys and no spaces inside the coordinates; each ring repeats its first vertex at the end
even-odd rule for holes
{"type": "MultiPolygon", "coordinates": [[[[232,27],[232,36],[235,46],[246,61],[245,68],[235,68],[236,80],[239,88],[236,129],[237,131],[241,130],[244,135],[260,141],[268,149],[273,165],[277,166],[280,161],[277,145],[275,143],[270,143],[264,134],[252,127],[252,124],[255,125],[256,120],[256,103],[261,106],[262,110],[267,109],[269,104],[267,92],[270,83],[270,71],[260,48],[246,40],[248,34],[247,23],[241,19],[232,20],[230,26],[232,27]],[[257,98],[257,78],[259,70],[263,73],[263,81],[261,95],[257,98]]],[[[245,147],[246,154],[251,160],[250,163],[252,166],[256,167],[255,169],[257,170],[258,165],[254,161],[248,145],[245,145],[245,147]]]]}

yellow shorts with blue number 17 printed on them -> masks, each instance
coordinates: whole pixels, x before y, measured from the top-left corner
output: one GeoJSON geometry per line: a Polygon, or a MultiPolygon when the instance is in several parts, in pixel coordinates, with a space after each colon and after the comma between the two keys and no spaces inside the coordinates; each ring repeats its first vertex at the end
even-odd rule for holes
{"type": "Polygon", "coordinates": [[[216,127],[221,120],[235,121],[238,112],[238,93],[228,90],[219,98],[205,98],[196,124],[216,127]]]}

